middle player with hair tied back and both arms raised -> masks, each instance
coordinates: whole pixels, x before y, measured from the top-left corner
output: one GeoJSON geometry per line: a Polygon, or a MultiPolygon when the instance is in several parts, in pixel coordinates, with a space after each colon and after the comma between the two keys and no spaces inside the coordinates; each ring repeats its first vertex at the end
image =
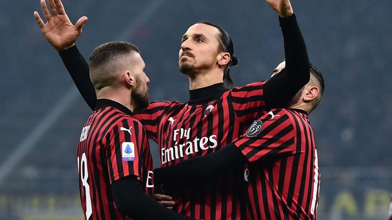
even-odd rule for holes
{"type": "MultiPolygon", "coordinates": [[[[161,167],[226,146],[269,109],[286,107],[308,83],[307,50],[290,2],[266,2],[279,14],[285,48],[285,67],[268,80],[231,90],[225,88],[224,81],[231,85],[230,67],[237,64],[229,34],[218,25],[199,22],[182,36],[178,62],[180,71],[189,78],[189,100],[151,102],[133,115],[143,125],[146,136],[158,143],[161,167]]],[[[89,67],[75,46],[87,18],[82,17],[73,25],[64,12],[43,26],[35,16],[42,33],[60,52],[77,88],[94,109],[97,97],[89,67]]],[[[173,210],[177,212],[201,219],[246,219],[247,183],[243,172],[244,168],[239,166],[210,182],[182,187],[164,185],[164,188],[173,197],[173,210]]]]}

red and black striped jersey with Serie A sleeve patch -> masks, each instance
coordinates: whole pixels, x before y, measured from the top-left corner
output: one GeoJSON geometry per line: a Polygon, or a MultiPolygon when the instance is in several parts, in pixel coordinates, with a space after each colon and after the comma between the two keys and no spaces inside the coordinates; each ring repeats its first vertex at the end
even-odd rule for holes
{"type": "Polygon", "coordinates": [[[116,208],[111,183],[134,175],[142,190],[153,196],[153,160],[139,121],[125,106],[107,99],[87,119],[77,159],[80,198],[85,219],[129,219],[116,208]]]}

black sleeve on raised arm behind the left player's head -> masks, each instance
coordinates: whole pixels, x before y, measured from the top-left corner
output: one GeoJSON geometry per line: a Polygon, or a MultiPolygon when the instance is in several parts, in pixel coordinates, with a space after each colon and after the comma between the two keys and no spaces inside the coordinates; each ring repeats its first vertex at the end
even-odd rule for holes
{"type": "Polygon", "coordinates": [[[76,46],[62,50],[59,54],[80,94],[82,94],[82,97],[87,102],[88,106],[90,106],[91,109],[94,109],[96,105],[96,94],[95,89],[92,86],[86,60],[83,58],[82,54],[80,54],[76,46]]]}

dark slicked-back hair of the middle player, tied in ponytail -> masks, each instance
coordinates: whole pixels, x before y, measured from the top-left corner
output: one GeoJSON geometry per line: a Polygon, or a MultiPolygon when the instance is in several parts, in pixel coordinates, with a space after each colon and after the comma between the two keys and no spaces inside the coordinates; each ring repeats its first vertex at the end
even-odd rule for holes
{"type": "Polygon", "coordinates": [[[225,30],[220,28],[220,26],[213,24],[213,23],[210,23],[208,21],[201,21],[199,23],[213,26],[219,30],[219,35],[218,35],[219,52],[230,53],[230,61],[225,67],[225,70],[223,73],[223,80],[225,81],[226,87],[231,88],[233,86],[233,80],[231,79],[231,76],[230,76],[230,67],[238,64],[237,58],[233,56],[233,53],[234,53],[233,41],[231,40],[229,34],[225,30]]]}

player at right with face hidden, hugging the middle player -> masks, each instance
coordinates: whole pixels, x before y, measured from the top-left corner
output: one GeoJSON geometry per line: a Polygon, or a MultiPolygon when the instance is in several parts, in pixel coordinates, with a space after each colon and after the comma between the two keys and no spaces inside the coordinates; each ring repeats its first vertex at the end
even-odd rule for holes
{"type": "Polygon", "coordinates": [[[321,101],[324,79],[313,66],[310,73],[287,108],[271,109],[215,153],[156,169],[156,183],[180,187],[213,181],[250,162],[244,172],[247,219],[316,219],[320,171],[308,114],[321,101]]]}

